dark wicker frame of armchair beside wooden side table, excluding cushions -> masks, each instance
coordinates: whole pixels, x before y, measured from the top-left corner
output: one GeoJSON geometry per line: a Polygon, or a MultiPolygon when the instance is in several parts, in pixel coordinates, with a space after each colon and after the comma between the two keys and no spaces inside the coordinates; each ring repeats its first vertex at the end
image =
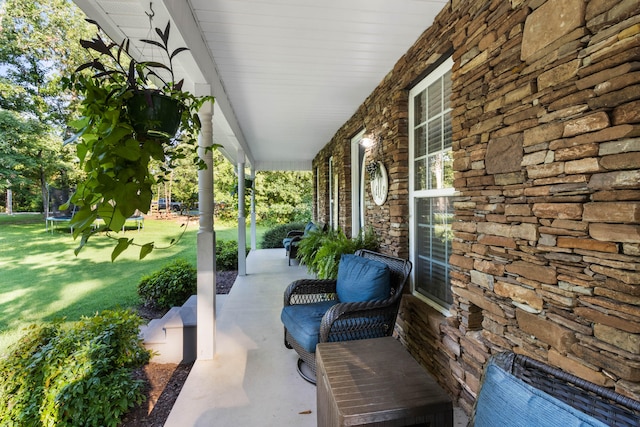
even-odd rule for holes
{"type": "MultiPolygon", "coordinates": [[[[284,293],[284,306],[326,302],[330,306],[320,323],[318,342],[349,341],[390,336],[393,333],[400,307],[402,290],[411,273],[411,262],[377,252],[361,249],[355,253],[386,264],[390,273],[389,296],[380,301],[336,303],[337,280],[302,279],[291,283],[284,293]]],[[[284,309],[283,309],[284,311],[284,309]]],[[[284,344],[299,356],[298,372],[315,384],[315,348],[308,351],[298,343],[285,327],[284,344]]]]}

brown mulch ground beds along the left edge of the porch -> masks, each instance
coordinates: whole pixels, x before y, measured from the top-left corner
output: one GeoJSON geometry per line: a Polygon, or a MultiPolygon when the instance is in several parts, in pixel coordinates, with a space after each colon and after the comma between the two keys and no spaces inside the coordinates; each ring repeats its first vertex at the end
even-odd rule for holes
{"type": "MultiPolygon", "coordinates": [[[[228,294],[238,275],[237,271],[216,273],[216,293],[228,294]]],[[[140,307],[142,318],[151,320],[162,317],[158,312],[140,307]]],[[[162,427],[169,417],[182,386],[189,376],[193,364],[149,363],[136,372],[136,377],[145,382],[147,401],[134,408],[123,419],[120,427],[162,427]]]]}

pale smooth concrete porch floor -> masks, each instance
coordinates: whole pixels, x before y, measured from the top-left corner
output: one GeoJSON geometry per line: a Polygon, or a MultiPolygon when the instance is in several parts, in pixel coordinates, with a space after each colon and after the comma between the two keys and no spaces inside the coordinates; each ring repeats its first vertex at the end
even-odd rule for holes
{"type": "MultiPolygon", "coordinates": [[[[316,426],[316,387],[298,375],[280,323],[284,289],[307,277],[284,249],[251,251],[247,275],[216,297],[216,356],[196,361],[166,427],[316,426]]],[[[454,418],[467,423],[457,408],[454,418]]]]}

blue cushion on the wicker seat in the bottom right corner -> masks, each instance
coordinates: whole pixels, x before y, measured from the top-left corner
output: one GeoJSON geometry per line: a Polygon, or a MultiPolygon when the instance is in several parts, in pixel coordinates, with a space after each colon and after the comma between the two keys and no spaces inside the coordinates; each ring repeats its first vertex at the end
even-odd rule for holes
{"type": "Polygon", "coordinates": [[[492,362],[475,411],[476,427],[604,427],[606,424],[530,386],[492,362]]]}

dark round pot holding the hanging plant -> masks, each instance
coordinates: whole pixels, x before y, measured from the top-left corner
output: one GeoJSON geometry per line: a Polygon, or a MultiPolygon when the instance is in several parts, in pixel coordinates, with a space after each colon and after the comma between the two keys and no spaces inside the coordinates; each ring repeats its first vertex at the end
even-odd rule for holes
{"type": "Polygon", "coordinates": [[[127,109],[138,135],[172,139],[180,126],[182,104],[159,92],[134,92],[127,101],[127,109]]]}

